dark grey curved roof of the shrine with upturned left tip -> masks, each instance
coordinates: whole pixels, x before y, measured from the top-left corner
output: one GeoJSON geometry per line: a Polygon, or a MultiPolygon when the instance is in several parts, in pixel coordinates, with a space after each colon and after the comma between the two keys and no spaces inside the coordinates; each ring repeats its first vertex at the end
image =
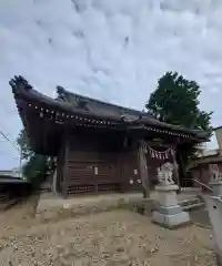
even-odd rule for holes
{"type": "Polygon", "coordinates": [[[52,99],[36,91],[22,76],[14,76],[9,83],[12,88],[17,104],[19,104],[19,99],[24,99],[30,102],[38,101],[63,112],[107,119],[109,121],[129,124],[129,129],[153,126],[172,132],[186,133],[200,141],[208,140],[210,137],[210,132],[190,130],[179,125],[168,124],[154,119],[149,113],[79,95],[69,92],[61,86],[57,88],[58,98],[52,99]]]}

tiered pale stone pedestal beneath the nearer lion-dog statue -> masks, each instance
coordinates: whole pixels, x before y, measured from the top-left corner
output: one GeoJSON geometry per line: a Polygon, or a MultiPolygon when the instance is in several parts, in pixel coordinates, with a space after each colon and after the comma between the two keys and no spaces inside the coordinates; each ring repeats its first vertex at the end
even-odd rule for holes
{"type": "Polygon", "coordinates": [[[160,204],[153,212],[152,221],[168,228],[175,228],[190,223],[190,215],[182,211],[178,204],[176,191],[178,185],[165,184],[158,185],[155,190],[160,196],[160,204]]]}

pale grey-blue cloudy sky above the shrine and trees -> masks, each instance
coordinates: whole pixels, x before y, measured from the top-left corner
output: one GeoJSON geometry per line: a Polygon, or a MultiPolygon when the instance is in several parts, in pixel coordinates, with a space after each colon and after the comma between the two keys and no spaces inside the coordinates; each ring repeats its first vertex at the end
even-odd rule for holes
{"type": "MultiPolygon", "coordinates": [[[[220,125],[221,13],[221,0],[1,0],[0,129],[12,141],[21,129],[13,75],[50,96],[60,84],[141,110],[171,70],[201,85],[201,108],[220,125]]],[[[0,168],[18,163],[0,137],[0,168]]]]}

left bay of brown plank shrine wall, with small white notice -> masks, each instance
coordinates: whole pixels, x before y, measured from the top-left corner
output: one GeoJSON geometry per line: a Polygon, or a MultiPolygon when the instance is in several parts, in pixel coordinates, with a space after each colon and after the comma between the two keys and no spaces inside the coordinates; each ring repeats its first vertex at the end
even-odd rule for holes
{"type": "Polygon", "coordinates": [[[120,191],[118,150],[105,137],[74,135],[68,140],[68,194],[120,191]]]}

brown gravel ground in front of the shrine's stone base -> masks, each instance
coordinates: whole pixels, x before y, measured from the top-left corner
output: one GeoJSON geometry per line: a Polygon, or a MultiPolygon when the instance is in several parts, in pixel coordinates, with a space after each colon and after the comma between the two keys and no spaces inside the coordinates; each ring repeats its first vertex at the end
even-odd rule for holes
{"type": "Polygon", "coordinates": [[[169,231],[121,209],[37,224],[29,204],[10,212],[0,224],[3,266],[215,265],[212,233],[195,225],[169,231]]]}

